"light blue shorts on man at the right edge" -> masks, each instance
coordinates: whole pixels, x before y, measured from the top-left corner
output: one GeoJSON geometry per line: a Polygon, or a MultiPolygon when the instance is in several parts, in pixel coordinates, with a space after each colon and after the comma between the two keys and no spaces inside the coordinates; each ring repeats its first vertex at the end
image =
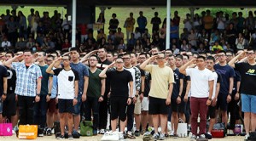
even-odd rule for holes
{"type": "Polygon", "coordinates": [[[241,93],[241,111],[256,114],[256,96],[241,93]]]}

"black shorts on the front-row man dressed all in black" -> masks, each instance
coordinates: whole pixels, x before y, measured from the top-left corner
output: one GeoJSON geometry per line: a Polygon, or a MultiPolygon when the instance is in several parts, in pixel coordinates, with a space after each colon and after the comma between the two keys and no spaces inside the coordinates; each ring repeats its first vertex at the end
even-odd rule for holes
{"type": "Polygon", "coordinates": [[[110,118],[125,121],[127,116],[127,98],[111,97],[110,98],[110,118]]]}

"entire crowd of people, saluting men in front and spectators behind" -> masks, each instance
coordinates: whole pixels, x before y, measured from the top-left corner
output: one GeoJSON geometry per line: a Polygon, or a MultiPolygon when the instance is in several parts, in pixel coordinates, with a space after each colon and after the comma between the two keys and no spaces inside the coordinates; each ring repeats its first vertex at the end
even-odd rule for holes
{"type": "MultiPolygon", "coordinates": [[[[169,49],[166,19],[161,22],[157,12],[152,34],[143,12],[136,28],[131,13],[124,24],[125,43],[113,14],[108,36],[101,29],[95,39],[81,25],[73,48],[67,15],[61,20],[57,11],[52,18],[44,12],[41,18],[31,9],[26,25],[21,11],[11,14],[7,10],[0,22],[0,121],[9,118],[15,131],[19,120],[19,125],[37,124],[38,136],[44,136],[44,128],[51,135],[54,121],[60,121],[57,138],[64,138],[65,130],[73,138],[79,136],[80,121],[91,117],[94,135],[119,127],[119,138],[135,139],[147,131],[154,139],[177,138],[179,121],[188,123],[191,139],[212,138],[218,121],[230,134],[243,121],[246,139],[255,131],[256,20],[251,11],[247,18],[241,12],[232,18],[222,11],[215,17],[210,10],[187,14],[181,34],[176,11],[169,49]],[[171,133],[167,121],[172,122],[171,133]]],[[[105,23],[102,13],[96,22],[105,23]]]]}

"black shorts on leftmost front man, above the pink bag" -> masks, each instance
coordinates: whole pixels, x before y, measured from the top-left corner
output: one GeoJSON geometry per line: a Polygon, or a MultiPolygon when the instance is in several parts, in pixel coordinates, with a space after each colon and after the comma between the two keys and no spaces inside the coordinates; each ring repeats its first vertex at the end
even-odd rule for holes
{"type": "Polygon", "coordinates": [[[3,116],[15,116],[17,102],[15,101],[15,93],[7,93],[6,99],[3,101],[3,116]]]}

